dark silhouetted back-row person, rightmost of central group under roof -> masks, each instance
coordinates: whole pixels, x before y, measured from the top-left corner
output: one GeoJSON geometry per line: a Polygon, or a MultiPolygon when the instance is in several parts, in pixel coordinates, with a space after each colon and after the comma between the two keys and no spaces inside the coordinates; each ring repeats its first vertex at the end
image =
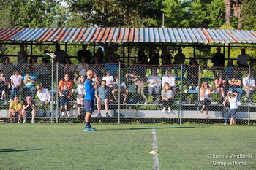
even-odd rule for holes
{"type": "MultiPolygon", "coordinates": [[[[181,69],[181,64],[184,64],[184,62],[185,62],[185,55],[184,53],[182,53],[182,48],[178,47],[178,53],[174,55],[174,64],[176,64],[176,66],[174,66],[174,72],[176,77],[178,77],[178,69],[181,69]]],[[[186,69],[184,66],[182,66],[182,72],[181,72],[182,77],[184,77],[185,72],[186,72],[186,69]]]]}

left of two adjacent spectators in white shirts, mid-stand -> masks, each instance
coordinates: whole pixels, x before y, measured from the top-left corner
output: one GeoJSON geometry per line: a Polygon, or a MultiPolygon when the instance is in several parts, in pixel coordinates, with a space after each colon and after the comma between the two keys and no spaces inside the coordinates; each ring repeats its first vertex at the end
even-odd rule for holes
{"type": "Polygon", "coordinates": [[[148,93],[152,95],[153,101],[159,101],[158,94],[160,92],[161,78],[157,75],[157,70],[152,69],[151,75],[148,76],[148,93]]]}

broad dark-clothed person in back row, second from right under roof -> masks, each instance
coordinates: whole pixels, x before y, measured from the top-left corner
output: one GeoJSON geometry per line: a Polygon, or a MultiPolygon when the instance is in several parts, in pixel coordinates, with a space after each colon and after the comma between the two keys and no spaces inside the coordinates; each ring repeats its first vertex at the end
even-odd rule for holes
{"type": "MultiPolygon", "coordinates": [[[[225,64],[225,56],[221,53],[221,48],[217,47],[217,53],[214,53],[211,57],[211,63],[214,63],[213,67],[224,67],[225,64]]],[[[213,68],[212,72],[214,73],[214,77],[217,77],[217,69],[213,68]]]]}

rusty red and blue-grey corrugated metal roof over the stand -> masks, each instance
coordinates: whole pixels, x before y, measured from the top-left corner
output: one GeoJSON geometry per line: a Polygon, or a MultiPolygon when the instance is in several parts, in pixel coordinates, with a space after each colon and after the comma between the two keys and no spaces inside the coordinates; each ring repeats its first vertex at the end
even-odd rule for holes
{"type": "Polygon", "coordinates": [[[206,28],[0,28],[0,41],[256,43],[256,31],[206,28]]]}

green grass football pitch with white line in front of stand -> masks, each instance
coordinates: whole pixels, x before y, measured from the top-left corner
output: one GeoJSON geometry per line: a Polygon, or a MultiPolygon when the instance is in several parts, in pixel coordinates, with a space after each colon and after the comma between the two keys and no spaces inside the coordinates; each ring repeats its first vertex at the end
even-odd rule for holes
{"type": "Polygon", "coordinates": [[[153,169],[152,128],[159,169],[256,169],[256,126],[96,124],[94,128],[97,131],[84,132],[83,124],[1,123],[0,169],[153,169]],[[231,154],[251,156],[212,158],[231,154]]]}

